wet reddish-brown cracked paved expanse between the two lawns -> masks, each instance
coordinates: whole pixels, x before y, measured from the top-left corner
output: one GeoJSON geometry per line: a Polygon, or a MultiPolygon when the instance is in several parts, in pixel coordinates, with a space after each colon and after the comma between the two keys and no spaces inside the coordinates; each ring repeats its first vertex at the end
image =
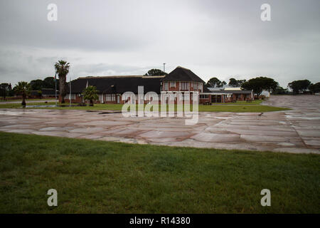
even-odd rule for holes
{"type": "Polygon", "coordinates": [[[263,113],[199,113],[183,118],[124,118],[86,110],[0,109],[0,130],[155,145],[269,150],[320,154],[320,96],[272,96],[265,105],[294,110],[263,113]]]}

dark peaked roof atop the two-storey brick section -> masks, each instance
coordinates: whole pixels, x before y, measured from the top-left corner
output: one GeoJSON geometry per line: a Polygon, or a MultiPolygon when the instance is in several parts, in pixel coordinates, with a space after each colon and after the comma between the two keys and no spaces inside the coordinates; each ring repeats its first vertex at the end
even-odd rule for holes
{"type": "Polygon", "coordinates": [[[196,76],[195,73],[181,66],[175,68],[174,71],[171,71],[162,78],[161,81],[196,81],[198,83],[205,83],[201,78],[196,76]]]}

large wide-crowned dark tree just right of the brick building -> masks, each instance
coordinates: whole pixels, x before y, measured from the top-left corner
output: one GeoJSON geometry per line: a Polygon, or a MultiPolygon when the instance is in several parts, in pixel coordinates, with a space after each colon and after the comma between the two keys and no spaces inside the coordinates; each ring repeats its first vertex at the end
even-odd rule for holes
{"type": "Polygon", "coordinates": [[[246,81],[242,84],[241,88],[245,90],[253,90],[253,93],[256,93],[259,96],[262,93],[262,90],[275,90],[279,86],[279,83],[274,81],[272,78],[267,77],[258,77],[252,78],[249,81],[246,81]]]}

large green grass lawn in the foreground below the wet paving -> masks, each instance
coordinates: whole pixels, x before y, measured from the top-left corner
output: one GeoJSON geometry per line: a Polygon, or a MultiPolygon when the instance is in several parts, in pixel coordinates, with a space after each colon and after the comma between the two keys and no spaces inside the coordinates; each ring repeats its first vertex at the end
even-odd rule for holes
{"type": "Polygon", "coordinates": [[[0,213],[319,213],[320,156],[0,133],[0,213]],[[58,191],[48,207],[47,191],[58,191]],[[260,191],[271,191],[262,207],[260,191]]]}

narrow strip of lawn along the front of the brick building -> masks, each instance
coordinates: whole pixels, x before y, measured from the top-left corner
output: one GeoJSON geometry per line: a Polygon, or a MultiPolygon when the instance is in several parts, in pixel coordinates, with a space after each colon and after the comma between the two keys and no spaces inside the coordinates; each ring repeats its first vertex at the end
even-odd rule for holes
{"type": "MultiPolygon", "coordinates": [[[[48,103],[27,103],[28,105],[55,105],[55,102],[48,103]]],[[[68,106],[66,107],[49,107],[45,109],[63,109],[63,110],[122,110],[122,104],[95,104],[90,106],[68,106]]],[[[191,105],[192,106],[192,105],[191,105]]],[[[0,108],[21,108],[20,103],[0,104],[0,108]]],[[[41,107],[38,107],[41,108],[41,107]]],[[[176,110],[176,107],[175,107],[176,110]]],[[[235,112],[235,113],[261,113],[279,110],[289,110],[289,108],[279,108],[267,105],[198,105],[200,112],[235,112]]]]}

